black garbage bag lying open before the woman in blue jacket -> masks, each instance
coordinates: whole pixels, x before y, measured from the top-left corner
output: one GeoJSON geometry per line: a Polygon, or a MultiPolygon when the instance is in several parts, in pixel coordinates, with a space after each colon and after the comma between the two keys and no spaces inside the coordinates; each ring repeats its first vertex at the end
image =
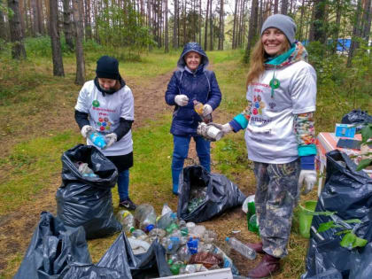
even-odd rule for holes
{"type": "Polygon", "coordinates": [[[223,174],[209,174],[202,166],[183,168],[180,175],[177,217],[184,221],[201,222],[221,215],[227,209],[243,205],[245,196],[223,174]],[[205,189],[204,197],[192,206],[192,191],[205,189]]]}

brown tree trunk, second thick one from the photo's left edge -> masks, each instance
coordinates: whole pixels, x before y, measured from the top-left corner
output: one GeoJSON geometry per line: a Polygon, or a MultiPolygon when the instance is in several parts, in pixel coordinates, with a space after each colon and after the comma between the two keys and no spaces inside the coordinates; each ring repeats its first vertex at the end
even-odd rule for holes
{"type": "Polygon", "coordinates": [[[53,74],[65,76],[63,69],[62,50],[58,32],[58,0],[50,0],[50,39],[53,59],[53,74]]]}

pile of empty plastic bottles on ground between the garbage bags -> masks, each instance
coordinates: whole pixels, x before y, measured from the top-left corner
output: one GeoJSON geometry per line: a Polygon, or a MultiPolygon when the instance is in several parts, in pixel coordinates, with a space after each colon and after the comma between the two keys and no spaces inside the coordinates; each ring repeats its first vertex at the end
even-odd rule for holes
{"type": "MultiPolygon", "coordinates": [[[[167,204],[163,206],[159,217],[153,206],[148,204],[138,205],[133,215],[121,210],[117,217],[135,254],[146,252],[154,240],[159,240],[167,252],[167,262],[174,275],[223,267],[231,267],[233,273],[238,273],[226,253],[213,244],[217,238],[213,230],[178,220],[176,213],[167,204]]],[[[245,252],[248,259],[255,258],[252,249],[244,251],[244,246],[239,244],[239,247],[234,247],[235,240],[234,237],[227,239],[236,251],[245,252]]]]}

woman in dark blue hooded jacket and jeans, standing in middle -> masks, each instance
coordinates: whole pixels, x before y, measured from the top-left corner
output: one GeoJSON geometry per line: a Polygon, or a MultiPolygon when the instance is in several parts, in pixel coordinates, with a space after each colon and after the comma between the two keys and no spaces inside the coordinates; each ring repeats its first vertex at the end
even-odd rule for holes
{"type": "Polygon", "coordinates": [[[187,158],[191,136],[197,146],[200,165],[211,171],[210,142],[198,136],[201,118],[194,110],[193,101],[204,104],[203,114],[213,112],[221,103],[221,91],[216,76],[206,67],[209,60],[198,43],[187,43],[177,62],[178,70],[168,83],[167,105],[174,105],[172,127],[174,151],[172,159],[173,193],[178,195],[178,179],[187,158]]]}

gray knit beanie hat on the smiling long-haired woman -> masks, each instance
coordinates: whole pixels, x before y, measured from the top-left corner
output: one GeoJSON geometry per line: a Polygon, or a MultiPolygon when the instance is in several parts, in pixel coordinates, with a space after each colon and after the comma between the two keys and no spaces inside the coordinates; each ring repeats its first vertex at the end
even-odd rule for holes
{"type": "Polygon", "coordinates": [[[281,30],[291,44],[295,43],[294,36],[296,34],[297,27],[296,24],[294,23],[294,20],[289,16],[280,13],[276,13],[273,14],[272,16],[269,16],[262,25],[261,35],[267,28],[270,27],[274,27],[281,30]]]}

